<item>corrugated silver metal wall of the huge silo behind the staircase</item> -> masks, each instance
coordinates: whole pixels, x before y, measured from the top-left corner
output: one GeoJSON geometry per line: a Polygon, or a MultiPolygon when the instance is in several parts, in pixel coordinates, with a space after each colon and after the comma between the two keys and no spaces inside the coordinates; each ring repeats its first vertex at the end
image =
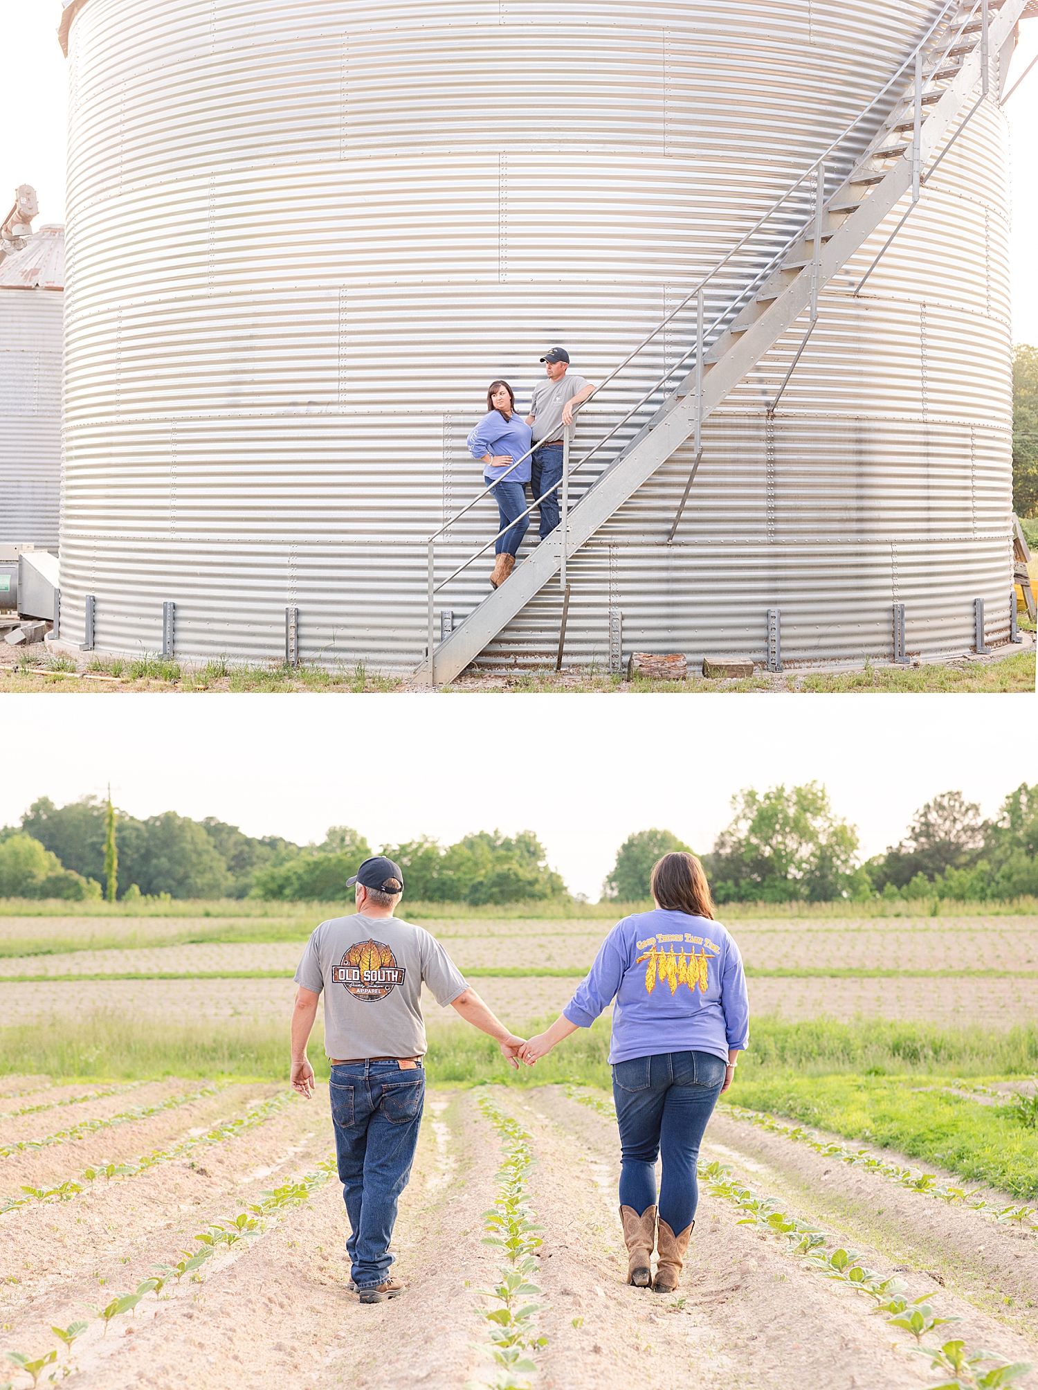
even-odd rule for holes
{"type": "MultiPolygon", "coordinates": [[[[602,377],[882,88],[932,3],[90,0],[72,25],[63,637],[382,667],[481,486],[486,382],[602,377]],[[113,220],[118,236],[113,236],[113,220]]],[[[863,129],[862,140],[875,126],[863,129]]],[[[1007,626],[1005,129],[988,104],[860,299],[841,281],[572,563],[567,651],[882,657],[1007,626]]],[[[899,215],[899,214],[895,214],[899,215]]],[[[875,246],[887,235],[877,235],[875,246]]],[[[873,247],[856,261],[867,267],[873,247]]],[[[686,346],[686,324],[661,353],[686,346]]],[[[646,354],[650,356],[650,354],[646,354]]],[[[593,402],[584,441],[638,385],[593,402]]],[[[577,449],[579,456],[579,448],[577,449]]],[[[496,530],[486,503],[438,574],[496,530]]],[[[460,617],[489,560],[443,594],[460,617]]],[[[539,660],[557,585],[485,660],[539,660]]]]}

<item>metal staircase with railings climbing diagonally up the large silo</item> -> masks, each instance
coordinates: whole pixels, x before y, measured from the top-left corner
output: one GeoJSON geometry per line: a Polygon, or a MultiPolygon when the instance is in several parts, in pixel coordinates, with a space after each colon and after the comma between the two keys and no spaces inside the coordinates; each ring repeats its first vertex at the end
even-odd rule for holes
{"type": "MultiPolygon", "coordinates": [[[[860,250],[902,197],[910,193],[912,202],[905,215],[859,281],[857,289],[862,288],[918,202],[927,179],[984,101],[988,93],[991,56],[1002,50],[1027,7],[1028,0],[1002,0],[1000,4],[999,0],[977,0],[966,7],[959,0],[952,0],[945,6],[942,14],[931,24],[924,38],[866,111],[764,214],[764,218],[735,250],[738,252],[741,247],[753,250],[750,238],[766,224],[767,218],[785,218],[785,222],[777,221],[775,225],[788,227],[793,210],[799,231],[791,239],[785,239],[777,253],[770,256],[757,253],[759,270],[750,277],[749,284],[725,303],[711,324],[705,325],[705,293],[709,292],[716,277],[725,272],[725,267],[727,275],[731,277],[734,253],[730,252],[696,285],[682,304],[671,311],[621,363],[621,367],[606,378],[604,384],[611,381],[638,352],[652,343],[681,309],[689,303],[695,304],[695,338],[684,357],[656,382],[649,393],[642,396],[638,406],[624,416],[620,425],[635,418],[638,407],[645,406],[646,402],[649,409],[656,406],[650,418],[641,424],[620,453],[606,464],[599,477],[568,510],[568,517],[564,518],[563,524],[541,541],[527,559],[516,566],[507,582],[492,591],[464,623],[453,632],[446,634],[436,646],[432,645],[434,594],[442,591],[461,569],[482,555],[488,546],[477,550],[463,566],[454,569],[449,578],[434,585],[435,539],[447,531],[457,517],[453,517],[436,532],[436,537],[429,539],[429,653],[415,671],[417,680],[440,684],[459,676],[547,584],[560,566],[564,566],[566,556],[572,555],[595,535],[616,510],[671,457],[675,449],[695,436],[695,463],[685,496],[671,527],[670,538],[673,538],[699,466],[702,421],[721,404],[746,373],[807,310],[809,321],[803,341],[785,381],[770,403],[770,409],[774,410],[814,327],[818,291],[860,250]],[[853,167],[849,175],[839,179],[838,186],[830,192],[827,168],[839,167],[841,163],[845,170],[848,168],[846,143],[860,126],[863,117],[875,108],[884,93],[888,99],[896,93],[895,83],[899,81],[905,89],[896,97],[892,110],[864,153],[852,157],[853,167]],[[971,101],[966,115],[960,115],[963,106],[977,88],[980,88],[980,93],[971,101]],[[809,215],[805,220],[805,195],[812,185],[814,190],[813,207],[809,208],[809,215]]],[[[600,392],[602,386],[598,388],[596,395],[600,392]]],[[[600,455],[606,441],[617,436],[620,425],[614,425],[572,471],[575,473],[577,468],[586,464],[596,453],[600,455]]],[[[474,503],[463,509],[459,516],[470,510],[471,506],[474,503]]]]}

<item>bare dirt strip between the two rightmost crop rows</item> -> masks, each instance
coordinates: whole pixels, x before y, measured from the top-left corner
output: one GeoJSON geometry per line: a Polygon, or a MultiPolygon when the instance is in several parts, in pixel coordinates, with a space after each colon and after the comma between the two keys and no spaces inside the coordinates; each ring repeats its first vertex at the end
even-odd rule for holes
{"type": "MultiPolygon", "coordinates": [[[[846,1143],[837,1134],[812,1133],[821,1140],[846,1143]]],[[[1005,1329],[1013,1327],[1030,1343],[1030,1352],[1021,1355],[1031,1359],[1038,1352],[1038,1237],[1034,1234],[999,1225],[967,1207],[948,1207],[907,1191],[878,1173],[824,1158],[805,1144],[724,1115],[711,1119],[709,1138],[723,1162],[731,1162],[725,1158],[731,1148],[764,1165],[761,1176],[775,1195],[788,1193],[798,1202],[810,1201],[823,1225],[838,1222],[856,1241],[867,1241],[895,1265],[923,1275],[920,1291],[927,1283],[932,1289],[942,1280],[967,1307],[973,1305],[970,1316],[978,1316],[982,1309],[989,1315],[985,1326],[992,1330],[984,1333],[989,1343],[996,1337],[1005,1340],[1005,1329]]],[[[920,1165],[891,1150],[875,1152],[888,1162],[937,1173],[953,1187],[963,1186],[955,1173],[920,1165]]],[[[973,1184],[966,1186],[973,1188],[973,1184]]],[[[987,1201],[1019,1205],[1005,1193],[977,1190],[987,1201]]]]}

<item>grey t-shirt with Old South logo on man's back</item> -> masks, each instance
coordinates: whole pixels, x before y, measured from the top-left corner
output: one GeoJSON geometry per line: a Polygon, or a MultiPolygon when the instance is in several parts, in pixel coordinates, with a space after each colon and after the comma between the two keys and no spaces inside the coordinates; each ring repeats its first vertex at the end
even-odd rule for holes
{"type": "Polygon", "coordinates": [[[440,1008],[468,986],[435,937],[396,917],[333,917],[307,942],[296,984],[324,990],[324,1047],[340,1062],[422,1056],[422,981],[440,1008]]]}

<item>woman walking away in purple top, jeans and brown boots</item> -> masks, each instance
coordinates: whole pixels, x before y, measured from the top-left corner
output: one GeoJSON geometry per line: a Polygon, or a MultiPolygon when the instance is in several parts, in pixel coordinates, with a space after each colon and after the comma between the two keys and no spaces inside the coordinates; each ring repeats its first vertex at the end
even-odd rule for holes
{"type": "Polygon", "coordinates": [[[695,1226],[703,1130],[749,1042],[749,1001],[739,948],[714,922],[695,855],[664,855],[653,866],[652,895],[656,909],[613,927],[560,1017],[518,1056],[535,1063],[575,1029],[591,1027],[616,998],[609,1061],[623,1151],[627,1282],[668,1294],[678,1287],[695,1226]]]}

